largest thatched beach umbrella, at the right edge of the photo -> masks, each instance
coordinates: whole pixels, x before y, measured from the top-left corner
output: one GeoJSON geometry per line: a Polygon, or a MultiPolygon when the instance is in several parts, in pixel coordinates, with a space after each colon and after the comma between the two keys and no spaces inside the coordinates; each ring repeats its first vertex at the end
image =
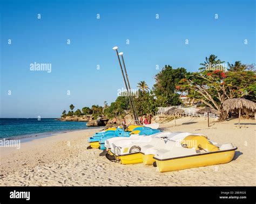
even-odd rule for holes
{"type": "Polygon", "coordinates": [[[240,116],[241,113],[254,113],[255,117],[255,110],[256,110],[256,103],[253,101],[247,100],[247,99],[240,99],[240,98],[235,98],[235,99],[227,99],[223,102],[223,110],[228,112],[238,112],[238,125],[240,128],[240,116]]]}

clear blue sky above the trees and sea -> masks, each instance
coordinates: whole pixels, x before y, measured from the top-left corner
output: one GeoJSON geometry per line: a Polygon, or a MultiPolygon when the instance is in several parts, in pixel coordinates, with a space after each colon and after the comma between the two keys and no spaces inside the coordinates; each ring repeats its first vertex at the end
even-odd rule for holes
{"type": "Polygon", "coordinates": [[[255,63],[253,0],[0,2],[0,117],[110,104],[124,87],[113,46],[124,52],[133,88],[143,80],[152,87],[164,65],[197,71],[210,54],[255,63]],[[51,73],[30,71],[33,62],[51,63],[51,73]]]}

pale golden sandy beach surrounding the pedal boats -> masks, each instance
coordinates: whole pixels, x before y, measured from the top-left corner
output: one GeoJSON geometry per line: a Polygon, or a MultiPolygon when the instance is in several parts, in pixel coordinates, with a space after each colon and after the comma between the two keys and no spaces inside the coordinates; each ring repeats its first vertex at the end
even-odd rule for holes
{"type": "Polygon", "coordinates": [[[79,130],[1,147],[1,186],[255,186],[255,121],[213,122],[185,117],[161,124],[164,131],[204,133],[218,143],[238,147],[228,164],[159,173],[153,166],[121,165],[86,150],[87,138],[100,129],[79,130]]]}

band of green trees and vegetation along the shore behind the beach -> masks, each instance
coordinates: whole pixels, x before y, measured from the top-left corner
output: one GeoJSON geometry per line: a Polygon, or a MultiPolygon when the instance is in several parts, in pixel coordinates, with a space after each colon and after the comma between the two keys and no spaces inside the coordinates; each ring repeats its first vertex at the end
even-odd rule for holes
{"type": "MultiPolygon", "coordinates": [[[[133,93],[134,104],[139,116],[143,114],[154,114],[157,107],[167,107],[182,104],[180,95],[185,94],[192,100],[201,101],[204,105],[221,112],[222,104],[226,99],[245,98],[256,102],[256,78],[255,66],[244,65],[241,61],[234,64],[227,63],[225,70],[224,61],[211,54],[206,57],[200,65],[198,72],[187,72],[185,68],[172,68],[165,65],[156,74],[156,83],[152,89],[145,81],[138,83],[137,93],[133,93]]],[[[104,102],[104,107],[92,105],[91,108],[84,107],[82,111],[70,105],[70,111],[66,114],[64,110],[62,117],[91,115],[95,118],[106,116],[108,118],[124,117],[131,114],[130,102],[127,93],[117,97],[110,105],[104,102]]]]}

